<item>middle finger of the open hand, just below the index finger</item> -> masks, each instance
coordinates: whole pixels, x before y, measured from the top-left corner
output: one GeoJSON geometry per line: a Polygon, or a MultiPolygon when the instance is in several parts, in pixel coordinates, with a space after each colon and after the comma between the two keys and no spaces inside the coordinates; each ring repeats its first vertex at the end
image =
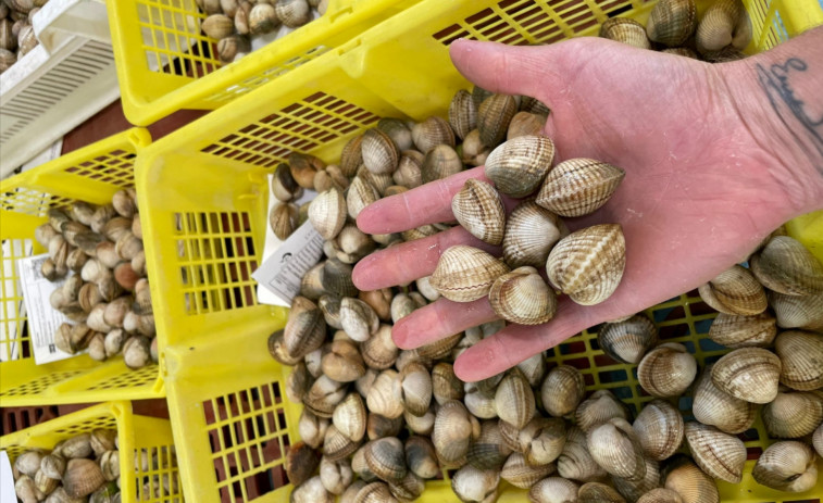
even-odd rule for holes
{"type": "Polygon", "coordinates": [[[434,273],[440,254],[456,244],[479,248],[494,255],[501,252],[500,247],[483,242],[457,226],[372,253],[357,263],[351,278],[359,290],[365,291],[406,285],[434,273]]]}

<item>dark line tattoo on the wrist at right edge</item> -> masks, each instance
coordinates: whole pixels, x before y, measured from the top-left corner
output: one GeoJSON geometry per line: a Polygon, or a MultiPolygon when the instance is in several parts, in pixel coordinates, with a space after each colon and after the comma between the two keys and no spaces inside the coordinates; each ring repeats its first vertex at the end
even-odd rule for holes
{"type": "MultiPolygon", "coordinates": [[[[758,64],[758,78],[777,116],[803,149],[809,149],[809,140],[823,155],[823,116],[815,120],[806,111],[806,103],[795,96],[789,84],[793,72],[806,72],[809,65],[799,58],[789,58],[783,64],[773,64],[769,68],[758,64]],[[797,127],[797,122],[802,128],[797,127]]],[[[811,153],[811,152],[810,152],[811,153]]]]}

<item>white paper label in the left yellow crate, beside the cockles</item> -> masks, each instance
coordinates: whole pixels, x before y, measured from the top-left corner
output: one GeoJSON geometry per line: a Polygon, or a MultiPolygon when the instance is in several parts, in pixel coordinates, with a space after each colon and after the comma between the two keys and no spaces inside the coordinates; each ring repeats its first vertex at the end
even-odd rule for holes
{"type": "Polygon", "coordinates": [[[48,253],[43,253],[17,261],[23,300],[28,313],[28,335],[32,337],[32,352],[37,365],[75,356],[54,345],[54,334],[58,327],[71,320],[53,309],[49,302],[51,292],[62,287],[65,280],[51,282],[42,276],[40,267],[48,257],[48,253]]]}

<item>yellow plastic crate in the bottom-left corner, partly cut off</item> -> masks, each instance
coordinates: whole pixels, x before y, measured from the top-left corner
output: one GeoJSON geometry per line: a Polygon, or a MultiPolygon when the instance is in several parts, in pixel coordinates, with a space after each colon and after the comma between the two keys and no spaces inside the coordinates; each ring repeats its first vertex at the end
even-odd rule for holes
{"type": "Polygon", "coordinates": [[[120,447],[121,491],[124,503],[182,503],[179,471],[172,428],[166,419],[132,414],[130,402],[109,402],[0,437],[0,450],[12,463],[29,449],[50,451],[61,441],[96,429],[116,429],[120,447]],[[148,469],[135,460],[148,456],[148,469]],[[151,460],[155,458],[157,464],[151,460]],[[169,481],[166,494],[158,482],[169,481]],[[145,486],[149,483],[149,486],[145,486]]]}

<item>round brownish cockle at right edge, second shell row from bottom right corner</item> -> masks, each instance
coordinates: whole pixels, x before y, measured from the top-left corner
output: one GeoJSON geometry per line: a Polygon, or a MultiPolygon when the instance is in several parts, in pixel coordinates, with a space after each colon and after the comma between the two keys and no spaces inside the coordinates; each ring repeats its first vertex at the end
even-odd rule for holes
{"type": "Polygon", "coordinates": [[[806,391],[777,393],[763,406],[762,415],[770,437],[805,437],[823,423],[823,395],[806,391]]]}

